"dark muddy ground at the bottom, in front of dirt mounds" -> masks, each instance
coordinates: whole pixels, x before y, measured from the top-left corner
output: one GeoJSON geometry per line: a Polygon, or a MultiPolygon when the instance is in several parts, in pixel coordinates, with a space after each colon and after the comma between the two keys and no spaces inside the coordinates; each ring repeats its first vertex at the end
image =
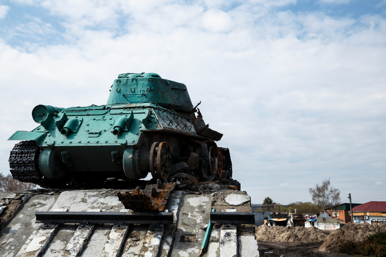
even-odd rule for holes
{"type": "Polygon", "coordinates": [[[354,257],[353,255],[318,252],[322,243],[257,242],[260,256],[264,257],[354,257]]]}

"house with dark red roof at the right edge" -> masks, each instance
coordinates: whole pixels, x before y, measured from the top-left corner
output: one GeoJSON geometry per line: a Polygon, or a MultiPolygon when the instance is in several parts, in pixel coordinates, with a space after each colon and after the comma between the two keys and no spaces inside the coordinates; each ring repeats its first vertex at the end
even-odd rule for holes
{"type": "Polygon", "coordinates": [[[377,225],[386,223],[386,202],[367,202],[352,208],[352,215],[356,223],[370,223],[377,225]]]}

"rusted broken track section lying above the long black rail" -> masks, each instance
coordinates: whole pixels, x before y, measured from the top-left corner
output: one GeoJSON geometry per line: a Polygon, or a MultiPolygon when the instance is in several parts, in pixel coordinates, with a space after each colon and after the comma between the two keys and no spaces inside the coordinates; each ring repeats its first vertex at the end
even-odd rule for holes
{"type": "Polygon", "coordinates": [[[126,209],[138,212],[163,212],[175,187],[176,183],[163,184],[161,180],[157,180],[156,185],[147,185],[144,190],[137,186],[134,191],[126,191],[124,194],[118,192],[117,197],[126,209]]]}

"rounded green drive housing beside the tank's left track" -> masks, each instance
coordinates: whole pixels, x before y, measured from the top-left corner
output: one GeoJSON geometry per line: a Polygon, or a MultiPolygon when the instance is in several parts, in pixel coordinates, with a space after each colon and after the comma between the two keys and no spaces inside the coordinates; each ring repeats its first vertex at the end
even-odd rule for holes
{"type": "Polygon", "coordinates": [[[42,175],[48,179],[60,179],[66,174],[66,171],[64,171],[60,163],[58,163],[58,157],[55,156],[55,151],[52,149],[44,149],[40,153],[39,169],[42,175]]]}

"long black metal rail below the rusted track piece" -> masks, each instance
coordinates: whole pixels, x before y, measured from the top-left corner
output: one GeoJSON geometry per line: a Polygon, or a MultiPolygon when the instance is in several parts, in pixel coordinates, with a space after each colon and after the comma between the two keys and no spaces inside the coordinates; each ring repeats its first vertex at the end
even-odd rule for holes
{"type": "Polygon", "coordinates": [[[173,224],[171,212],[36,212],[36,223],[173,224]]]}

